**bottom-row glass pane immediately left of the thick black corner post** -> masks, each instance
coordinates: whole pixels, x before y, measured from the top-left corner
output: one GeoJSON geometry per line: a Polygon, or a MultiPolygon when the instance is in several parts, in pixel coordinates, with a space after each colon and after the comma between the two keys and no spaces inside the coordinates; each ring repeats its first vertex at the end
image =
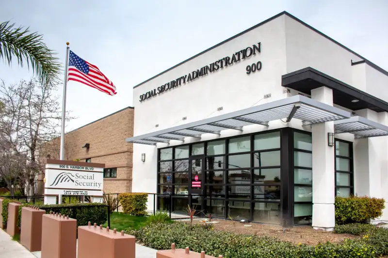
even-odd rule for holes
{"type": "Polygon", "coordinates": [[[281,210],[277,203],[254,203],[253,221],[280,224],[281,210]]]}

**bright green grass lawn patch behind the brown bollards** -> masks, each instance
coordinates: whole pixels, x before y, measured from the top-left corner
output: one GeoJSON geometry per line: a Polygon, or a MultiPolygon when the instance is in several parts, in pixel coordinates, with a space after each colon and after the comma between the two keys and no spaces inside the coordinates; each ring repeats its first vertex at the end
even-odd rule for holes
{"type": "MultiPolygon", "coordinates": [[[[146,224],[147,217],[138,217],[122,212],[113,212],[111,214],[111,229],[116,228],[117,231],[125,230],[127,228],[138,229],[146,224]]],[[[108,227],[108,221],[103,225],[104,228],[108,227]]]]}

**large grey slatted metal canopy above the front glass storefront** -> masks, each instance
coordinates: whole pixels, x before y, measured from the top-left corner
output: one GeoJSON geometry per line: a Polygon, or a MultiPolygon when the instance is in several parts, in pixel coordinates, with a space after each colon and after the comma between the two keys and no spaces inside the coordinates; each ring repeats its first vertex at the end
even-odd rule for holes
{"type": "Polygon", "coordinates": [[[216,134],[227,129],[242,131],[242,127],[251,124],[268,126],[269,121],[292,118],[321,123],[350,118],[350,113],[334,106],[329,106],[302,95],[276,100],[259,106],[252,106],[231,113],[190,122],[145,135],[127,138],[127,142],[156,145],[157,142],[168,143],[169,140],[184,141],[184,137],[201,138],[202,134],[216,134]]]}

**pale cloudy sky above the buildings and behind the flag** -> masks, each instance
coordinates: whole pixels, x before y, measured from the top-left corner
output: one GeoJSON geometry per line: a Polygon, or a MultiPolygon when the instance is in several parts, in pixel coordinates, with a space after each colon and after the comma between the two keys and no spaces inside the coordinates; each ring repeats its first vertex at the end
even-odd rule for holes
{"type": "MultiPolygon", "coordinates": [[[[43,34],[63,65],[70,42],[113,81],[115,96],[67,84],[66,110],[77,117],[67,122],[68,132],[133,106],[133,86],[282,11],[388,70],[387,10],[387,0],[1,0],[0,22],[43,34]]],[[[27,67],[0,61],[8,84],[32,76],[27,67]]]]}

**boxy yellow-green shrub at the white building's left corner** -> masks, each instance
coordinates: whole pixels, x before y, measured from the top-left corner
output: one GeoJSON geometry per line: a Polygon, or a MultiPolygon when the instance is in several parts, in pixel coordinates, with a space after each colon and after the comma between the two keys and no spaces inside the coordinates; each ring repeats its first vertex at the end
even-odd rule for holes
{"type": "Polygon", "coordinates": [[[144,216],[147,214],[146,193],[124,193],[118,196],[123,212],[135,216],[144,216]]]}

